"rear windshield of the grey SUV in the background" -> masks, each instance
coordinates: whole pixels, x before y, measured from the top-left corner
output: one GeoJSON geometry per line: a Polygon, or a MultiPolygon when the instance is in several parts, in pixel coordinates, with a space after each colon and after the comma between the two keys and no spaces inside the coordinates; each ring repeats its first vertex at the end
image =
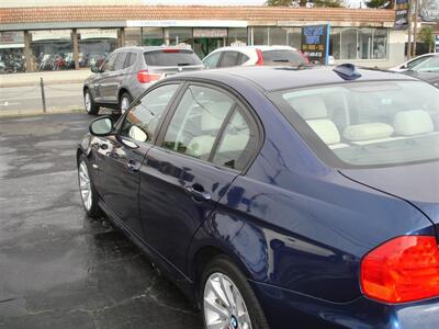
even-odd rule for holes
{"type": "Polygon", "coordinates": [[[150,66],[201,65],[195,53],[188,49],[162,49],[144,53],[145,63],[150,66]]]}

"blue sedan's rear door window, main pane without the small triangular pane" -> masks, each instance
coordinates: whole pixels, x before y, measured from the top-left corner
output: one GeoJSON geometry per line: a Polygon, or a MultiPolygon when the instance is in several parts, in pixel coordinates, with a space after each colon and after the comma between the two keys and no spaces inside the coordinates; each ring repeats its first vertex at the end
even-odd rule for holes
{"type": "Polygon", "coordinates": [[[166,133],[164,147],[209,160],[222,125],[235,100],[216,89],[190,86],[166,133]]]}

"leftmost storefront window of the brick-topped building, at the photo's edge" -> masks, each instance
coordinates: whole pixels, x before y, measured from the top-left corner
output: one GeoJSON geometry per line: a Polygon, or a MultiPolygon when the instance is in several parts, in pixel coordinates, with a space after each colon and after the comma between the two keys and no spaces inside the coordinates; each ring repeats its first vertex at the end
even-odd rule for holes
{"type": "Polygon", "coordinates": [[[23,72],[24,33],[0,32],[0,73],[23,72]]]}

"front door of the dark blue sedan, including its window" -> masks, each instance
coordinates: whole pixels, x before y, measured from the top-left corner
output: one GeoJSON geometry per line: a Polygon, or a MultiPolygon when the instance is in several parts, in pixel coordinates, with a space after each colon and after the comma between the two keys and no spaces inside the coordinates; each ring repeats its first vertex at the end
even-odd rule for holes
{"type": "Polygon", "coordinates": [[[159,86],[145,94],[125,115],[117,136],[103,138],[99,146],[100,193],[106,207],[138,237],[139,169],[155,139],[158,123],[179,84],[159,86]]]}

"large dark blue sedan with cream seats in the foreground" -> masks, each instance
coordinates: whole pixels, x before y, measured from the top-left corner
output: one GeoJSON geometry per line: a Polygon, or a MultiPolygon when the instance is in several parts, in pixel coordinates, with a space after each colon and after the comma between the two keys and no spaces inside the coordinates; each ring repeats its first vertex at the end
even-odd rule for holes
{"type": "Polygon", "coordinates": [[[205,328],[439,328],[439,90],[352,66],[158,81],[77,150],[205,328]]]}

